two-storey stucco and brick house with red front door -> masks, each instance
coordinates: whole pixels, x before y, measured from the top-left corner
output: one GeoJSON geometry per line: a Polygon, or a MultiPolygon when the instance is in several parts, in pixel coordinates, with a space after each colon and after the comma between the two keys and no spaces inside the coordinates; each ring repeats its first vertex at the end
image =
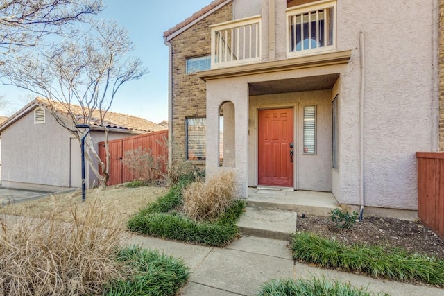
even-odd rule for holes
{"type": "Polygon", "coordinates": [[[439,148],[438,8],[213,1],[164,33],[171,150],[209,177],[234,170],[243,198],[327,191],[414,216],[415,153],[439,148]]]}

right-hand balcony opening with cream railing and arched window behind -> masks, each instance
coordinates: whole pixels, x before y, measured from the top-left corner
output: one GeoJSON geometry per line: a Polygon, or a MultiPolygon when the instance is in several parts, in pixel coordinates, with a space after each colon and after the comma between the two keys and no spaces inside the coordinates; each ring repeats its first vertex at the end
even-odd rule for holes
{"type": "Polygon", "coordinates": [[[287,10],[287,56],[336,49],[336,1],[318,1],[287,10]]]}

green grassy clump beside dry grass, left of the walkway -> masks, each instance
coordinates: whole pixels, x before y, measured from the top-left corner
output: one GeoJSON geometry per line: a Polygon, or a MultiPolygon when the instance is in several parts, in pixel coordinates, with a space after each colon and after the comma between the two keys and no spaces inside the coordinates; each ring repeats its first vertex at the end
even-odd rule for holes
{"type": "Polygon", "coordinates": [[[113,281],[103,295],[176,295],[189,277],[181,260],[141,247],[119,250],[117,261],[129,268],[130,276],[113,281]]]}

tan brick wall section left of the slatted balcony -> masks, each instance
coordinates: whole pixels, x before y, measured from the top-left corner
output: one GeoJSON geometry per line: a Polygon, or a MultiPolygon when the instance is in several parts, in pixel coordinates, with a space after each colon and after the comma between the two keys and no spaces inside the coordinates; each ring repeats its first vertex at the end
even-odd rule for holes
{"type": "MultiPolygon", "coordinates": [[[[185,119],[191,116],[205,116],[205,82],[196,74],[185,73],[186,58],[209,55],[211,34],[208,26],[232,20],[232,2],[216,10],[212,15],[200,20],[194,26],[171,40],[173,55],[173,118],[172,147],[173,157],[185,159],[185,119]]],[[[204,162],[194,162],[204,168],[204,162]]]]}

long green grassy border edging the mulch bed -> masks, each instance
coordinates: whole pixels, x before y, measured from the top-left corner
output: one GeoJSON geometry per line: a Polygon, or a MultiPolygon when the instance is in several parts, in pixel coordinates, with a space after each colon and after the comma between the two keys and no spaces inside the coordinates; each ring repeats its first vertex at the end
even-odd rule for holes
{"type": "Polygon", "coordinates": [[[371,277],[400,281],[422,281],[444,286],[444,261],[395,248],[384,250],[371,245],[349,247],[309,232],[293,236],[293,258],[325,268],[363,272],[371,277]]]}

